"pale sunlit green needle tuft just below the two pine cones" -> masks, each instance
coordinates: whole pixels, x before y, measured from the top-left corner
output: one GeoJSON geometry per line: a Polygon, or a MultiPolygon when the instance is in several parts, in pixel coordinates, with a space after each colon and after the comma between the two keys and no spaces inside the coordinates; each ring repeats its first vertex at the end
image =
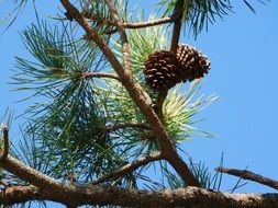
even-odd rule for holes
{"type": "Polygon", "coordinates": [[[165,127],[176,142],[187,140],[191,135],[213,137],[212,134],[198,130],[192,126],[197,122],[192,117],[218,99],[218,96],[211,95],[200,96],[192,101],[199,90],[200,82],[201,80],[192,82],[184,93],[180,93],[180,86],[177,86],[166,97],[163,107],[165,127]]]}

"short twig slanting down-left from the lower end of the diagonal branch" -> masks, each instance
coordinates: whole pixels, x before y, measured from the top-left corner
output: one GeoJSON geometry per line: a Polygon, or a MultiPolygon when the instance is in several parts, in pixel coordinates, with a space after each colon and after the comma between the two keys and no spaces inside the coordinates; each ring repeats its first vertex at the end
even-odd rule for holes
{"type": "Polygon", "coordinates": [[[141,158],[130,164],[126,164],[114,172],[108,173],[108,174],[99,177],[98,180],[92,182],[92,184],[96,185],[96,184],[107,182],[109,180],[116,180],[119,177],[124,176],[127,173],[135,171],[140,166],[143,166],[149,162],[154,162],[154,161],[158,161],[158,160],[163,160],[163,154],[160,152],[152,153],[152,154],[141,158]]]}

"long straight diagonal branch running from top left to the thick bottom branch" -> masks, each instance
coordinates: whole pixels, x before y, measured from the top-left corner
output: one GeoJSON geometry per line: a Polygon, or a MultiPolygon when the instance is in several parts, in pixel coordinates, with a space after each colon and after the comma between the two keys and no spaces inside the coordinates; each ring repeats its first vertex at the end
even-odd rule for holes
{"type": "Polygon", "coordinates": [[[78,24],[86,31],[87,36],[99,46],[99,48],[102,50],[102,53],[105,55],[114,68],[120,80],[122,81],[122,84],[125,86],[133,101],[137,104],[147,122],[149,123],[152,130],[157,136],[162,153],[164,154],[165,159],[173,165],[177,173],[180,174],[187,185],[200,186],[198,180],[191,173],[188,165],[180,159],[179,154],[177,153],[174,145],[171,143],[169,135],[152,108],[151,99],[146,96],[146,92],[144,92],[140,85],[136,85],[133,82],[130,70],[124,70],[114,54],[104,44],[100,35],[90,26],[81,13],[68,0],[60,0],[60,2],[67,10],[68,14],[75,19],[78,24]]]}

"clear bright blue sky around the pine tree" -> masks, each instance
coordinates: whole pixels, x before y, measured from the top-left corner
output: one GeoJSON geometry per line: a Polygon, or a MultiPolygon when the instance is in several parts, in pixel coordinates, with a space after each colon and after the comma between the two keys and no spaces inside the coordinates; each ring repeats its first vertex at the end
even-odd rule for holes
{"type": "MultiPolygon", "coordinates": [[[[152,1],[155,2],[155,1],[152,1]]],[[[41,14],[57,11],[57,1],[37,1],[41,14]],[[41,5],[41,7],[40,7],[41,5]],[[43,5],[43,7],[42,7],[43,5]]],[[[254,171],[278,180],[278,2],[263,5],[254,2],[253,14],[243,1],[233,1],[234,13],[218,20],[198,39],[182,37],[201,49],[211,60],[201,93],[216,93],[220,99],[201,115],[204,122],[198,128],[216,134],[213,139],[194,138],[182,148],[196,161],[203,161],[211,171],[218,166],[224,152],[224,166],[254,171]]],[[[0,2],[0,14],[9,11],[7,1],[0,2]]],[[[149,2],[147,3],[149,4],[149,2]]],[[[149,5],[148,5],[149,7],[149,5]]],[[[24,103],[14,103],[22,97],[11,92],[7,84],[14,68],[14,56],[26,56],[19,31],[34,19],[32,4],[25,8],[18,21],[0,37],[0,115],[7,106],[15,114],[24,109],[24,103]]],[[[16,122],[12,126],[14,140],[20,139],[16,122]]],[[[236,177],[224,175],[223,189],[231,188],[236,177]]],[[[263,185],[248,183],[241,192],[274,192],[263,185]]]]}

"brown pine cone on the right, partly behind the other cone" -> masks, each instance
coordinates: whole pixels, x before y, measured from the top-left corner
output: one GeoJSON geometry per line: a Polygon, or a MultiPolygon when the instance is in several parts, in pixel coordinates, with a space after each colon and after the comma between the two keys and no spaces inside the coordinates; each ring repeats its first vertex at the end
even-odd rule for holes
{"type": "Polygon", "coordinates": [[[202,78],[204,73],[209,72],[209,59],[202,53],[187,44],[179,44],[177,59],[181,66],[178,72],[179,82],[192,81],[202,78]]]}

